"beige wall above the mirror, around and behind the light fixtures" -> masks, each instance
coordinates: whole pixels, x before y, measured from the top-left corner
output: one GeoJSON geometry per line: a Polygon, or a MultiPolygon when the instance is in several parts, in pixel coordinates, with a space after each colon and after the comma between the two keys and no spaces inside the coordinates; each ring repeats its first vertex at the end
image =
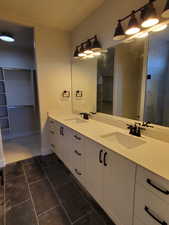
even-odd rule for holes
{"type": "MultiPolygon", "coordinates": [[[[100,8],[73,30],[73,47],[95,34],[104,48],[113,46],[116,44],[113,41],[113,34],[117,20],[147,2],[148,0],[105,0],[100,8]]],[[[165,3],[166,0],[156,1],[158,11],[163,10],[165,3]]]]}

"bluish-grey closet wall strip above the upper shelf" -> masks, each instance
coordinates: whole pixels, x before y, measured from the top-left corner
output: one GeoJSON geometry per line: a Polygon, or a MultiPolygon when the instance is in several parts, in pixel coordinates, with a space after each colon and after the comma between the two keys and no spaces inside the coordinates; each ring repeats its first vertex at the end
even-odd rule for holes
{"type": "Polygon", "coordinates": [[[0,67],[34,69],[33,49],[7,46],[1,42],[0,67]]]}

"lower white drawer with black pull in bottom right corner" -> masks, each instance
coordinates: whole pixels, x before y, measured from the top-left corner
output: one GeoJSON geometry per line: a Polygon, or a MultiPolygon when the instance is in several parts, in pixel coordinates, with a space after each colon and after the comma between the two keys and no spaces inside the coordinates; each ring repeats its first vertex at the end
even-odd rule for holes
{"type": "Polygon", "coordinates": [[[167,225],[169,224],[169,205],[152,192],[136,184],[134,215],[144,224],[167,225]]]}

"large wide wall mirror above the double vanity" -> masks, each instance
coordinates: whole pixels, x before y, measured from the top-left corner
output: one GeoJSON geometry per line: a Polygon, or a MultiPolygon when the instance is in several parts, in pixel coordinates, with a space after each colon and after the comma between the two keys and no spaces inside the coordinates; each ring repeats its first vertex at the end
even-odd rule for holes
{"type": "Polygon", "coordinates": [[[74,112],[169,126],[169,28],[72,64],[74,112]]]}

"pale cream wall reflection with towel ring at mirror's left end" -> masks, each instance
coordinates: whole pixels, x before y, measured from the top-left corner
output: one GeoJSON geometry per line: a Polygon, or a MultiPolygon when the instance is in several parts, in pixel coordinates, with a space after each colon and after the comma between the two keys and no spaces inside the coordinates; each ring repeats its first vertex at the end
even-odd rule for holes
{"type": "Polygon", "coordinates": [[[73,112],[96,112],[97,58],[72,64],[73,112]]]}

